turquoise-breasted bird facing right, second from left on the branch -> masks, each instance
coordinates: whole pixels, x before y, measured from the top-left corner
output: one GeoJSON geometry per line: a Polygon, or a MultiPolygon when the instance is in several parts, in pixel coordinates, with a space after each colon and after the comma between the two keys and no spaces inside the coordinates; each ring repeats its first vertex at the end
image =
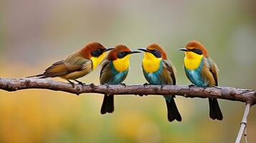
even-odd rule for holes
{"type": "MultiPolygon", "coordinates": [[[[140,51],[131,51],[127,46],[119,44],[108,53],[108,56],[102,62],[100,70],[100,84],[112,85],[122,84],[125,80],[131,54],[140,53],[140,51]]],[[[125,86],[125,84],[123,84],[125,86]]],[[[114,112],[114,95],[105,94],[103,104],[100,109],[101,114],[114,112]]]]}

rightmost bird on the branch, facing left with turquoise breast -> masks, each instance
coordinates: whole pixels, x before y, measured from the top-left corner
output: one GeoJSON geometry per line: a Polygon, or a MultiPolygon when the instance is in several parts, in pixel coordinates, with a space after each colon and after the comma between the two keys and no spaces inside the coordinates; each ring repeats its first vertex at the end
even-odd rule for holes
{"type": "MultiPolygon", "coordinates": [[[[192,83],[190,86],[197,87],[217,87],[218,67],[209,57],[207,49],[196,40],[189,41],[186,48],[179,49],[185,51],[184,69],[186,77],[192,83]]],[[[216,98],[209,98],[209,117],[211,119],[222,120],[222,111],[216,98]]]]}

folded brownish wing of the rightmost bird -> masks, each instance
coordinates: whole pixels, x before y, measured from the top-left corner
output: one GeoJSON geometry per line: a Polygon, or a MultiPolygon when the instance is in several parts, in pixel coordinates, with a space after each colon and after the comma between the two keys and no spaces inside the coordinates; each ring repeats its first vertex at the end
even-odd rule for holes
{"type": "Polygon", "coordinates": [[[209,68],[209,71],[212,73],[213,77],[214,77],[214,81],[215,81],[215,86],[218,86],[218,67],[217,64],[215,64],[215,62],[207,57],[204,58],[204,63],[206,63],[206,66],[209,68]]]}

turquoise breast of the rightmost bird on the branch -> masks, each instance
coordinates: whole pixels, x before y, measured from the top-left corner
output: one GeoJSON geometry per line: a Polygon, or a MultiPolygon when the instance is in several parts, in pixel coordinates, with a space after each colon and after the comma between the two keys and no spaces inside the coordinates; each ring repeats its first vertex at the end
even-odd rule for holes
{"type": "Polygon", "coordinates": [[[190,70],[184,67],[186,72],[186,77],[192,82],[192,84],[196,85],[197,87],[207,87],[209,84],[208,80],[203,79],[202,77],[202,68],[204,66],[204,60],[202,59],[200,66],[197,69],[190,70]]]}

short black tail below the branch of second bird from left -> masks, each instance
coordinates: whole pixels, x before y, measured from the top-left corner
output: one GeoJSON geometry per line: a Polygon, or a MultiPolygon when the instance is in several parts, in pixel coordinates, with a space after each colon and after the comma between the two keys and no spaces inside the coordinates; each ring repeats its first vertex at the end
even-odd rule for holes
{"type": "Polygon", "coordinates": [[[114,95],[104,95],[103,105],[101,106],[100,113],[112,113],[114,112],[114,95]]]}

